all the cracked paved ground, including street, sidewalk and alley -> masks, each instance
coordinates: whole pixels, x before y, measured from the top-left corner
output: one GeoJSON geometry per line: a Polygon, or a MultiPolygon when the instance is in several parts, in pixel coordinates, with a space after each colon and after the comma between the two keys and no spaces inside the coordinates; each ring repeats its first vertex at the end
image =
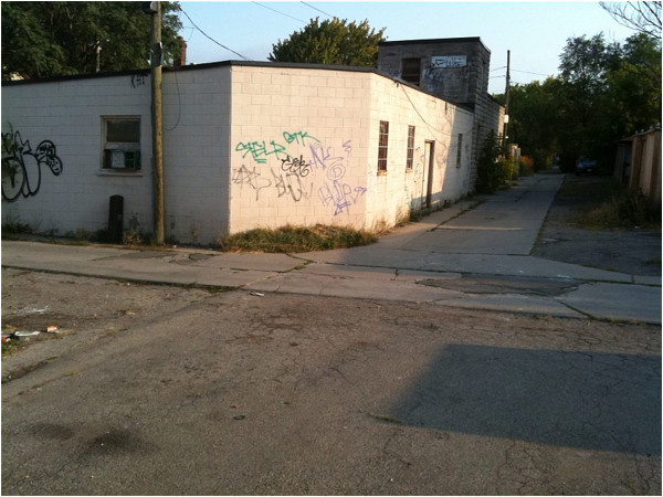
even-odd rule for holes
{"type": "Polygon", "coordinates": [[[3,331],[57,334],[2,359],[2,493],[661,495],[660,258],[565,260],[604,240],[527,191],[297,256],[3,242],[3,331]]]}

